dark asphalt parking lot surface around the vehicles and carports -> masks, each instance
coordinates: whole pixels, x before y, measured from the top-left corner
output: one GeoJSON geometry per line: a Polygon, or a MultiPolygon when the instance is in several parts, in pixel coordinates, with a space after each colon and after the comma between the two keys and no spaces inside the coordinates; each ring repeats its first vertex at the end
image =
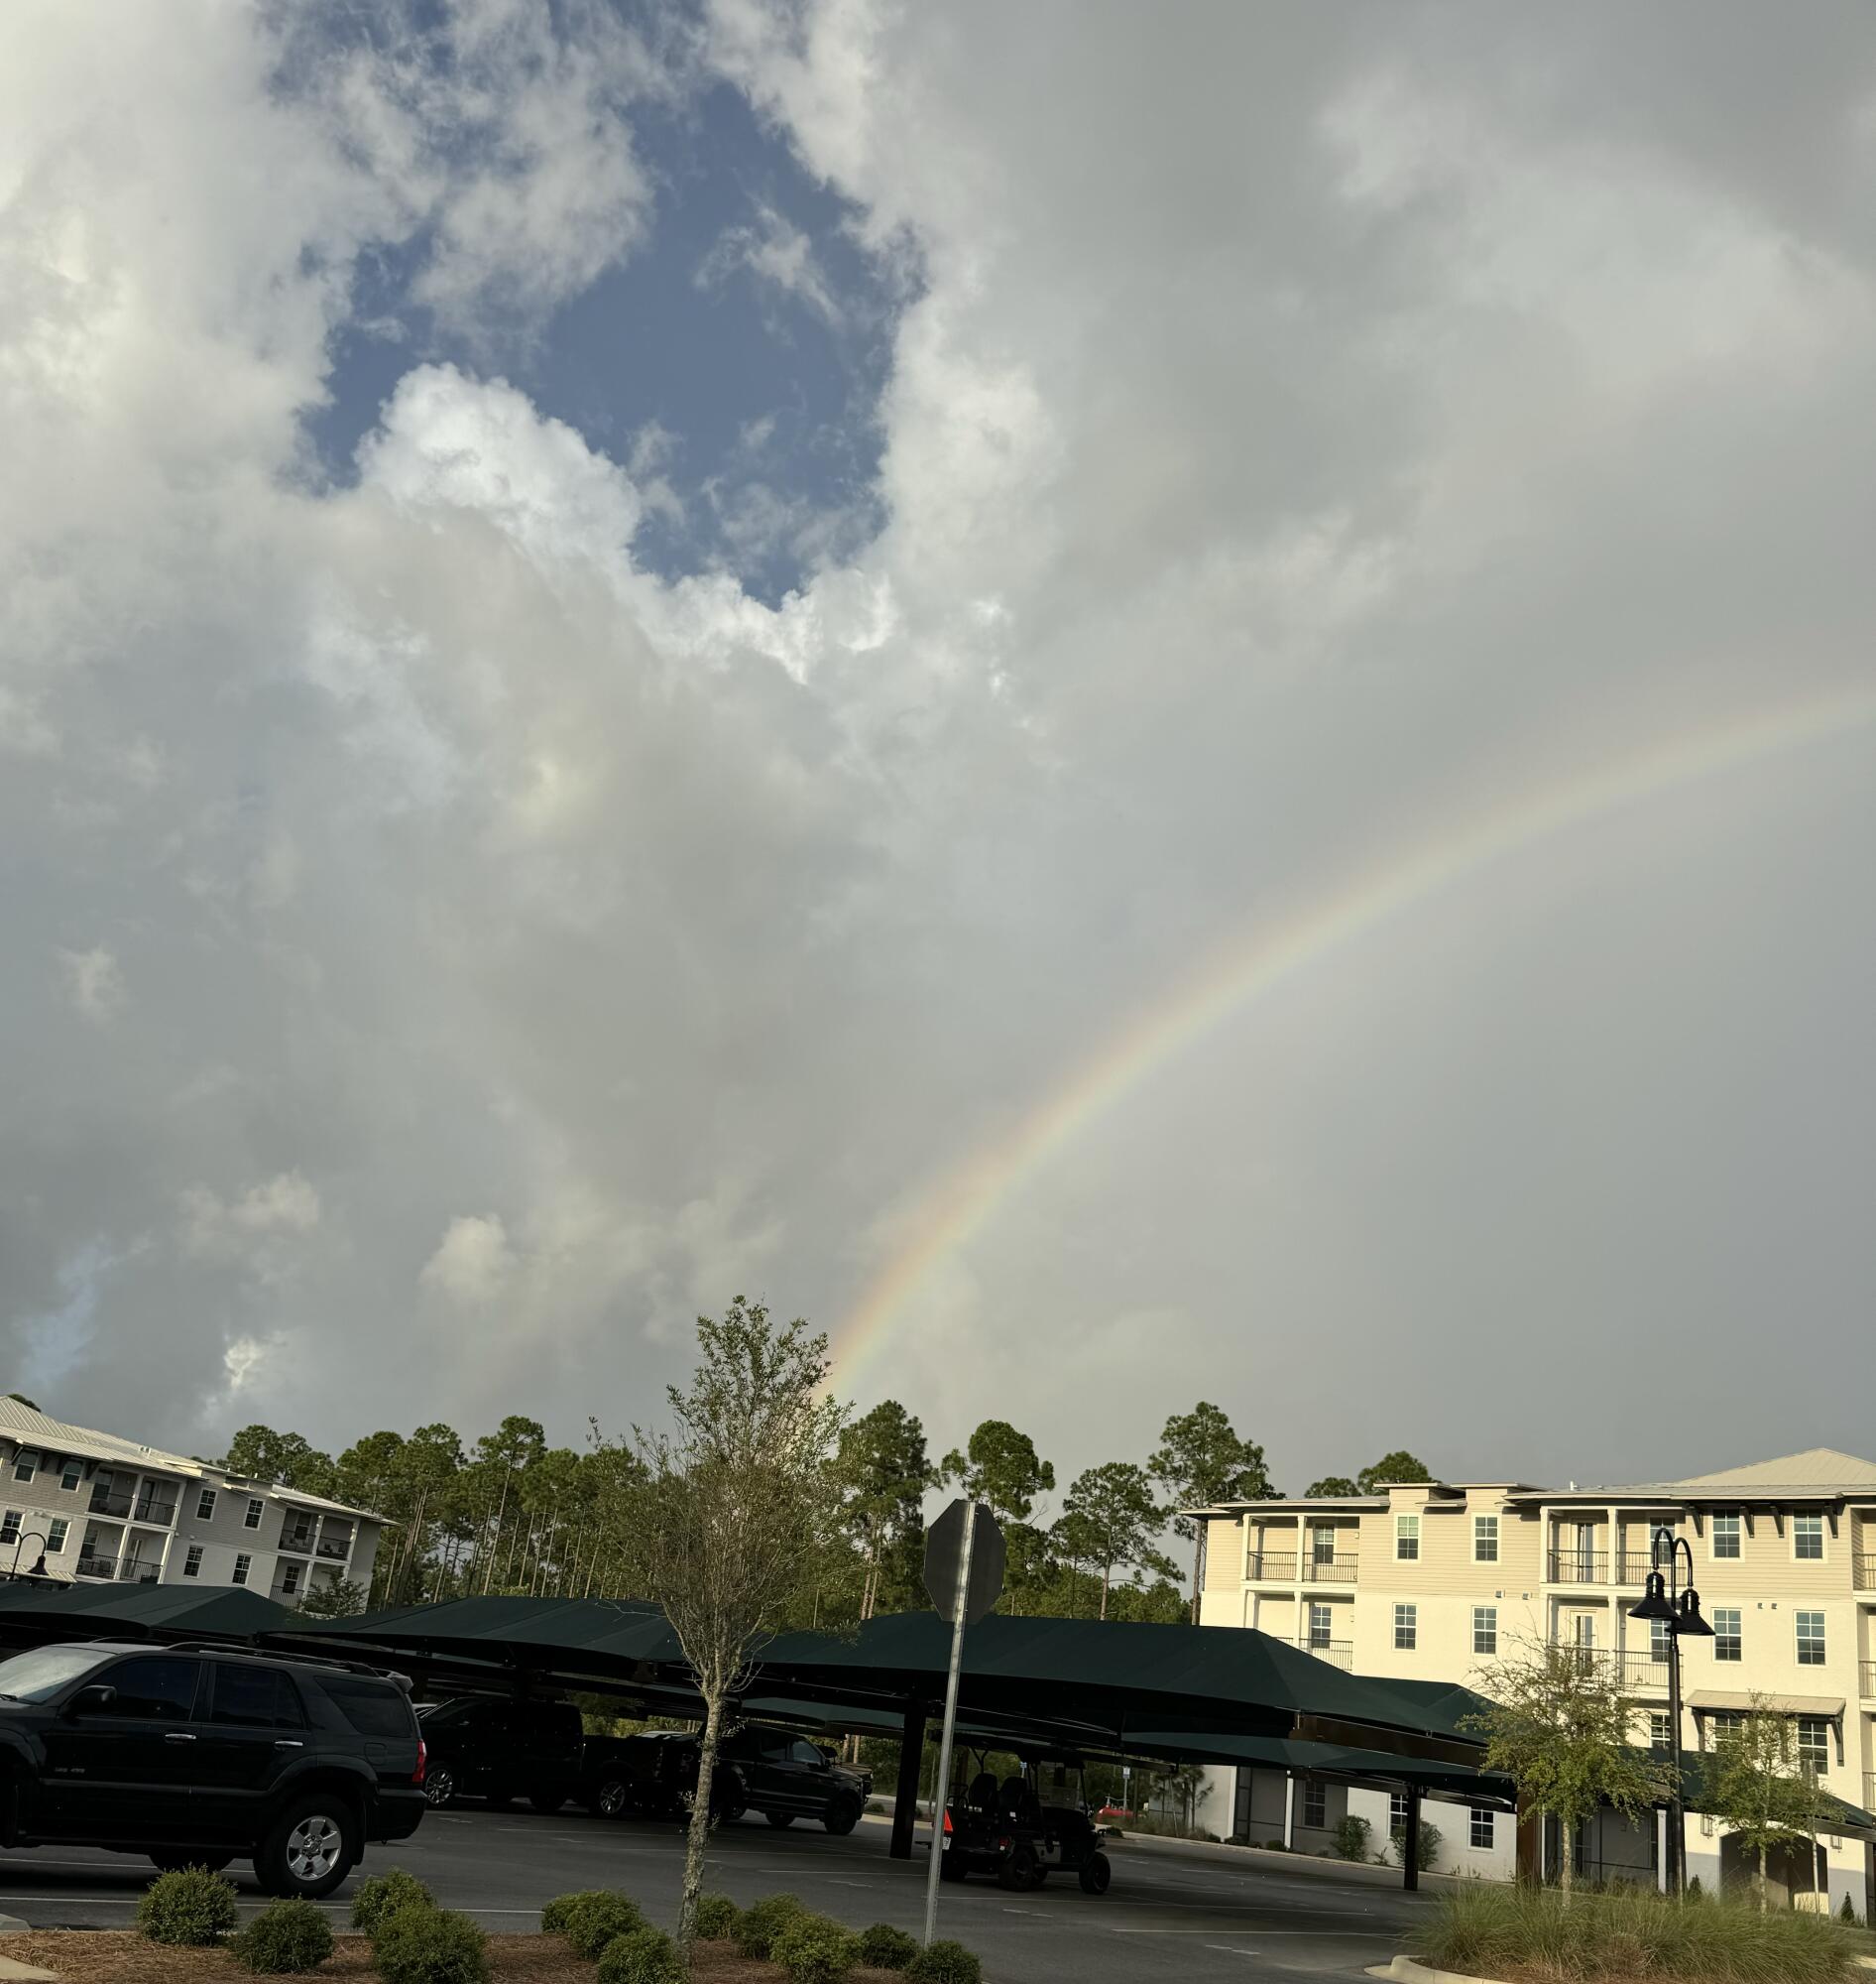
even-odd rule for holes
{"type": "MultiPolygon", "coordinates": [[[[674,1825],[464,1805],[432,1811],[414,1839],[373,1847],[363,1871],[391,1865],[409,1867],[438,1901],[490,1930],[533,1928],[543,1901],[579,1887],[625,1889],[670,1926],[684,1841],[674,1825]]],[[[147,1861],[77,1847],[0,1853],[0,1913],[36,1928],[123,1928],[151,1873],[147,1861]]],[[[230,1873],[244,1903],[260,1907],[246,1863],[230,1873]]],[[[855,1926],[896,1922],[916,1932],[924,1849],[910,1863],[888,1859],[879,1819],[865,1819],[849,1839],[831,1839],[811,1823],[777,1831],[744,1819],[714,1835],[708,1885],[744,1903],[785,1889],[855,1926]]],[[[347,1893],[349,1885],[327,1905],[337,1919],[347,1893]]],[[[1269,1861],[1239,1869],[1120,1841],[1114,1885],[1101,1899],[1083,1895],[1073,1879],[1027,1895],[970,1881],[946,1885],[938,1913],[940,1932],[976,1948],[997,1984],[1085,1984],[1103,1974],[1148,1976],[1168,1960],[1194,1980],[1358,1976],[1392,1956],[1418,1905],[1390,1889],[1287,1873],[1269,1861]]]]}

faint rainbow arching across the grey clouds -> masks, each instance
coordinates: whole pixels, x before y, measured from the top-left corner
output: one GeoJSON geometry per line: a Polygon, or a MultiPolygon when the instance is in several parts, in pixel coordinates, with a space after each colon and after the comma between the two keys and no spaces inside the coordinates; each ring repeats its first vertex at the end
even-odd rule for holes
{"type": "Polygon", "coordinates": [[[1759,710],[1521,796],[1347,881],[1289,921],[1253,929],[1114,1034],[1027,1115],[928,1190],[906,1238],[835,1333],[835,1369],[853,1391],[932,1270],[966,1246],[1059,1151],[1212,1028],[1428,897],[1626,806],[1717,778],[1876,722],[1860,688],[1759,710]]]}

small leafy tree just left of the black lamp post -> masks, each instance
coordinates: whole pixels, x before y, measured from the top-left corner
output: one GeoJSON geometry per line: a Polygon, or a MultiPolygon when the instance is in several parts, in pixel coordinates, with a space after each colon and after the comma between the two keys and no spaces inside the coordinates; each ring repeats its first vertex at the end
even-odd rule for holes
{"type": "Polygon", "coordinates": [[[1525,1641],[1479,1686],[1491,1690],[1491,1706],[1462,1718],[1462,1728],[1483,1732],[1479,1768],[1517,1786],[1519,1811],[1557,1817],[1569,1895],[1577,1827],[1604,1803],[1640,1819],[1670,1796],[1672,1776],[1630,1748],[1630,1704],[1620,1682],[1577,1647],[1525,1641]]]}

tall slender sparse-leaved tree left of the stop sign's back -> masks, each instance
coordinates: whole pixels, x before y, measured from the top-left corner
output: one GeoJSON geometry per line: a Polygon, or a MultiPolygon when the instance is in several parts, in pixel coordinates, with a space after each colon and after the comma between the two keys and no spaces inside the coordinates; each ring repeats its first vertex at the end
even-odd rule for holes
{"type": "Polygon", "coordinates": [[[710,1837],[710,1780],[724,1712],[773,1637],[825,1540],[827,1464],[845,1411],[823,1393],[827,1337],[769,1325],[742,1296],[722,1321],[698,1317],[690,1391],[666,1391],[672,1430],[633,1428],[646,1486],[637,1526],[645,1593],[664,1607],[704,1698],[696,1794],[684,1849],[678,1946],[696,1936],[710,1837]]]}

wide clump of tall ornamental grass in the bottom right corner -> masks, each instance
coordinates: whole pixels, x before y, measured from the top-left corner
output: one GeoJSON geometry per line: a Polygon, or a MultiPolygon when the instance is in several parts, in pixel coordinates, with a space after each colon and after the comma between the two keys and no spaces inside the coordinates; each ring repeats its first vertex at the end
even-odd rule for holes
{"type": "Polygon", "coordinates": [[[1531,1966],[1555,1978],[1686,1978],[1711,1984],[1842,1984],[1856,1932],[1828,1915],[1650,1889],[1579,1891],[1467,1881],[1440,1895],[1408,1930],[1408,1948],[1440,1970],[1505,1976],[1531,1966]]]}

